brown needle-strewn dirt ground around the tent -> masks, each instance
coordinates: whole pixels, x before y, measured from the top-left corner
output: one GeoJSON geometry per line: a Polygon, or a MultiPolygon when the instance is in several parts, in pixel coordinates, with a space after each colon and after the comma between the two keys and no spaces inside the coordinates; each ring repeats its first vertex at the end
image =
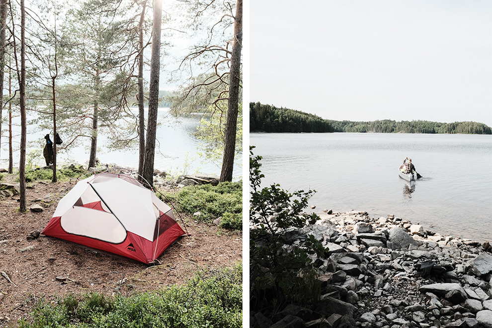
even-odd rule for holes
{"type": "MultiPolygon", "coordinates": [[[[29,185],[25,213],[19,212],[18,196],[0,196],[1,327],[15,327],[17,320],[26,318],[30,307],[41,298],[54,300],[56,295],[90,292],[131,295],[183,283],[197,268],[227,267],[242,259],[241,233],[194,222],[182,214],[191,236],[181,237],[167,248],[158,258],[162,265],[157,266],[43,235],[27,240],[31,232],[44,229],[57,199],[74,185],[75,182],[29,185]],[[32,204],[41,205],[44,210],[29,211],[32,204]]],[[[178,223],[184,229],[182,222],[178,223]]]]}

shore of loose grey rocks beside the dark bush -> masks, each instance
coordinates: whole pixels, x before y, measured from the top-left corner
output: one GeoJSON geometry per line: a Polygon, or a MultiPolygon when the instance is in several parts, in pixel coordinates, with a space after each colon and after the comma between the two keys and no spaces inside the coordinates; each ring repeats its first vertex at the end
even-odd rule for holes
{"type": "Polygon", "coordinates": [[[314,235],[329,248],[325,258],[312,258],[321,301],[314,309],[288,305],[274,315],[250,313],[250,327],[492,328],[487,242],[357,211],[329,211],[315,225],[285,233],[294,245],[314,235]]]}

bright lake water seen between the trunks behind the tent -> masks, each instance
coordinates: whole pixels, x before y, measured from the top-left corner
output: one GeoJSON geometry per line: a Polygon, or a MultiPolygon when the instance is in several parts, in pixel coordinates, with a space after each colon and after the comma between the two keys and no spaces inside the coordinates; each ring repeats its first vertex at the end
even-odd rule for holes
{"type": "MultiPolygon", "coordinates": [[[[138,111],[138,108],[134,108],[138,111]]],[[[220,166],[216,164],[206,163],[203,158],[200,158],[197,154],[197,147],[200,141],[193,137],[191,133],[196,130],[199,124],[200,115],[183,117],[176,119],[169,115],[169,108],[159,108],[158,122],[160,125],[157,128],[156,133],[156,154],[154,167],[160,170],[165,170],[176,173],[195,173],[197,171],[201,173],[217,174],[220,175],[220,166]]],[[[147,118],[147,108],[145,110],[145,117],[147,118]]],[[[14,121],[20,121],[17,117],[14,121]]],[[[18,123],[17,123],[18,124],[18,123]]],[[[7,128],[6,125],[2,126],[2,129],[7,128]]],[[[46,163],[42,156],[42,150],[45,145],[44,136],[50,133],[51,140],[53,138],[52,131],[40,130],[36,126],[28,127],[27,153],[30,151],[38,151],[38,157],[34,160],[34,164],[44,166],[46,163]]],[[[2,136],[2,149],[0,166],[8,166],[8,145],[6,144],[6,135],[8,132],[4,132],[2,136]]],[[[15,134],[20,134],[20,127],[15,127],[15,134]]],[[[62,140],[65,141],[64,136],[61,135],[62,140]]],[[[137,141],[138,142],[138,141],[137,141]]],[[[134,148],[125,150],[110,150],[107,145],[111,141],[108,140],[103,134],[99,135],[97,139],[97,154],[96,157],[100,163],[118,164],[121,166],[130,166],[138,168],[138,144],[134,148]]],[[[19,148],[20,136],[14,137],[14,148],[19,148]]],[[[61,146],[64,146],[62,144],[61,146]]],[[[90,139],[82,138],[81,142],[76,147],[71,147],[68,150],[62,150],[58,153],[58,163],[79,163],[87,164],[89,160],[89,147],[90,139]]],[[[19,152],[13,154],[14,166],[18,166],[19,152]]],[[[236,161],[234,167],[234,179],[238,180],[242,176],[241,161],[236,161]]]]}

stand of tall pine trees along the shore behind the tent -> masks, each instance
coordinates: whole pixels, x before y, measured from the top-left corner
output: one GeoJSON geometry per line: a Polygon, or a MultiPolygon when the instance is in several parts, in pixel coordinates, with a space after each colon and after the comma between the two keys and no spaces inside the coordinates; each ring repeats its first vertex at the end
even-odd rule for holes
{"type": "MultiPolygon", "coordinates": [[[[220,117],[227,120],[218,142],[223,150],[220,180],[232,180],[241,101],[242,0],[174,0],[166,10],[162,0],[28,1],[0,0],[0,85],[6,89],[0,91],[0,143],[8,133],[9,173],[13,149],[20,149],[21,211],[26,209],[28,123],[53,139],[57,133],[63,136],[63,145],[47,140],[53,147],[53,182],[57,151],[90,143],[88,166],[93,167],[98,135],[105,133],[106,147],[138,145],[138,173],[152,186],[157,108],[163,104],[159,82],[161,67],[170,64],[163,62],[170,33],[202,36],[178,60],[179,76],[165,78],[206,86],[215,77],[220,93],[213,93],[216,99],[208,98],[208,105],[220,102],[220,117]],[[144,67],[150,81],[144,80],[144,67]],[[138,113],[130,109],[136,105],[138,113]],[[27,122],[27,113],[35,119],[27,122]],[[19,136],[12,135],[17,115],[20,147],[19,136]]],[[[192,93],[194,86],[187,86],[176,94],[192,93]]]]}

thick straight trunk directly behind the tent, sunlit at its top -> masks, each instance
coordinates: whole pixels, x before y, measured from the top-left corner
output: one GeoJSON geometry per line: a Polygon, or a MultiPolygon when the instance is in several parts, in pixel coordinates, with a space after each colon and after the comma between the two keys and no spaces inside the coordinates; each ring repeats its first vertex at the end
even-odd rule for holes
{"type": "Polygon", "coordinates": [[[154,154],[156,150],[157,108],[159,106],[159,76],[161,68],[161,25],[163,2],[154,0],[154,19],[152,23],[151,76],[149,84],[149,116],[147,118],[147,138],[142,176],[154,185],[154,154]]]}

